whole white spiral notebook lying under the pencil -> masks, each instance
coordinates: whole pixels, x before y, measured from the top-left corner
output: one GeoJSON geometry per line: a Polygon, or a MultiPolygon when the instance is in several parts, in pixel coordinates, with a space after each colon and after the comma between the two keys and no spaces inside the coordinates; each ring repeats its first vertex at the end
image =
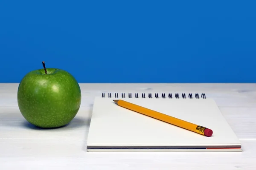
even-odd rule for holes
{"type": "Polygon", "coordinates": [[[87,136],[89,152],[241,152],[241,143],[206,94],[106,93],[94,100],[87,136]],[[122,99],[212,129],[191,132],[113,102],[122,99]]]}

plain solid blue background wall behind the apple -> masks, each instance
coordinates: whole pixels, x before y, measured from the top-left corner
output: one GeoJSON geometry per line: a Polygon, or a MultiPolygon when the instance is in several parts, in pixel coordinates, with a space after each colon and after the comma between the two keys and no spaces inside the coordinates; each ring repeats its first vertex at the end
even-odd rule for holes
{"type": "Polygon", "coordinates": [[[1,0],[0,82],[256,82],[254,2],[1,0]]]}

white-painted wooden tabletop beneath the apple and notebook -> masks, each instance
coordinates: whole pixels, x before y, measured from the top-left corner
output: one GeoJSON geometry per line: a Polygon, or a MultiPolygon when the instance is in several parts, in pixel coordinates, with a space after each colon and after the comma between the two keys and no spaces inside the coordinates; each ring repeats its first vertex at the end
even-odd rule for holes
{"type": "Polygon", "coordinates": [[[18,84],[0,84],[0,170],[256,170],[256,84],[80,84],[81,108],[62,128],[38,129],[17,106],[18,84]],[[88,153],[94,96],[113,92],[205,93],[217,102],[242,153],[88,153]]]}

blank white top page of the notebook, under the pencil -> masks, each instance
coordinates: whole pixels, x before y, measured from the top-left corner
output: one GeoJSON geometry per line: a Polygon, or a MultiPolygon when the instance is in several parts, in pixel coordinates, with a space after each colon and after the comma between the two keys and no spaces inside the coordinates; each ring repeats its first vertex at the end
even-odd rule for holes
{"type": "Polygon", "coordinates": [[[88,146],[223,146],[240,145],[212,99],[136,99],[127,102],[213,130],[211,137],[116,105],[111,98],[96,97],[87,139],[88,146]]]}

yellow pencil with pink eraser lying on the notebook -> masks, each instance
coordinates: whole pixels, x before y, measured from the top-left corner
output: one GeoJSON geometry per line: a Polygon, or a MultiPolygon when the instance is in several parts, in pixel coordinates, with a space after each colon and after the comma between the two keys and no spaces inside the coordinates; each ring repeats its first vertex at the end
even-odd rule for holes
{"type": "Polygon", "coordinates": [[[213,133],[212,130],[207,128],[207,127],[203,127],[203,126],[200,126],[200,125],[195,125],[193,123],[186,122],[184,120],[177,119],[175,117],[172,117],[172,116],[169,116],[169,115],[157,112],[157,111],[153,111],[153,110],[150,110],[148,108],[144,108],[142,106],[135,105],[135,104],[130,103],[130,102],[126,102],[124,100],[113,100],[113,101],[117,105],[119,105],[123,108],[127,108],[131,111],[135,111],[135,112],[144,114],[146,116],[150,116],[154,119],[158,119],[158,120],[161,120],[163,122],[167,122],[167,123],[170,123],[172,125],[182,127],[186,130],[190,130],[192,132],[199,133],[199,134],[204,135],[204,136],[208,136],[208,137],[212,136],[212,133],[213,133]]]}

